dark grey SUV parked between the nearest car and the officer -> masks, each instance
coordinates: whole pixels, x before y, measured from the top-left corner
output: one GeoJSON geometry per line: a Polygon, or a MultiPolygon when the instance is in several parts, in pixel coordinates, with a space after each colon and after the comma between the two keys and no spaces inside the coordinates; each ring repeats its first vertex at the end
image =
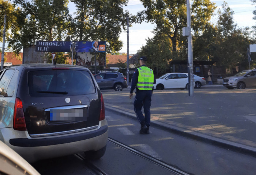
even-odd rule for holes
{"type": "Polygon", "coordinates": [[[104,72],[94,75],[99,88],[122,91],[127,88],[127,78],[120,72],[104,72]]]}

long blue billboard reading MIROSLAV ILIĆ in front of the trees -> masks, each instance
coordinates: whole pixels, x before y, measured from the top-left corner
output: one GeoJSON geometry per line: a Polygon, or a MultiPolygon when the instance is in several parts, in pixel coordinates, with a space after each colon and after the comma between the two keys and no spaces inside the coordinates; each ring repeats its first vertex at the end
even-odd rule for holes
{"type": "Polygon", "coordinates": [[[37,41],[37,52],[70,52],[75,43],[75,52],[106,52],[106,41],[37,41]]]}

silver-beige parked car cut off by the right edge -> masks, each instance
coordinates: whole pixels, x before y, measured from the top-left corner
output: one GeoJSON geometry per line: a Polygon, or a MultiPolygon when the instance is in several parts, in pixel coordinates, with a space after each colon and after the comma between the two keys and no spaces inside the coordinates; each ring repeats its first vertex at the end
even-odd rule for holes
{"type": "Polygon", "coordinates": [[[224,78],[223,86],[228,89],[244,89],[246,87],[256,87],[256,69],[244,70],[234,76],[224,78]]]}

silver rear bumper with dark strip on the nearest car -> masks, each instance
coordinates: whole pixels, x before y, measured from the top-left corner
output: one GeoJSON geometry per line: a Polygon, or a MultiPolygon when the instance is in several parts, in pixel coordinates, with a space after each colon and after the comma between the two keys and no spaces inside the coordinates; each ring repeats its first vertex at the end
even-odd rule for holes
{"type": "Polygon", "coordinates": [[[1,132],[5,136],[5,144],[30,163],[84,151],[97,151],[106,146],[108,141],[106,119],[93,130],[57,136],[31,138],[27,131],[15,131],[13,128],[3,128],[1,132]]]}

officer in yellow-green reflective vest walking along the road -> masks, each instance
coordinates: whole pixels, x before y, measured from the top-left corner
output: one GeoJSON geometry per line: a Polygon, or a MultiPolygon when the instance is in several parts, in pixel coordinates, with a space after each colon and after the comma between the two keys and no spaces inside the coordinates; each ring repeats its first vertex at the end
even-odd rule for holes
{"type": "Polygon", "coordinates": [[[146,67],[146,61],[147,57],[140,57],[140,67],[133,72],[129,95],[129,98],[132,99],[133,90],[136,88],[133,107],[137,119],[140,122],[140,134],[149,134],[151,96],[153,93],[153,84],[156,83],[154,72],[152,69],[146,67]],[[142,106],[145,116],[142,114],[142,106]]]}

